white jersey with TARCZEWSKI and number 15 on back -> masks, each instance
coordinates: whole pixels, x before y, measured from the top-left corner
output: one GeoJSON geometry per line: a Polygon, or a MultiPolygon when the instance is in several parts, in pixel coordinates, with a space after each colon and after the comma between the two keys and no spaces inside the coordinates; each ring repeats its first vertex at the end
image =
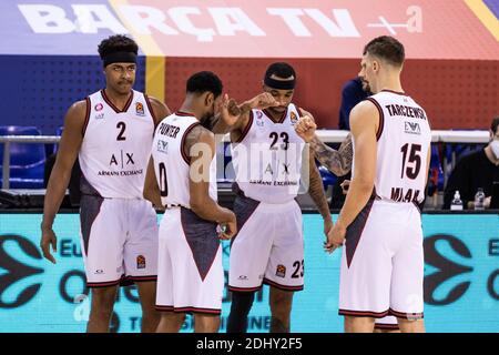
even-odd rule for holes
{"type": "Polygon", "coordinates": [[[380,116],[376,194],[386,201],[422,202],[431,142],[425,110],[410,97],[393,91],[381,91],[367,100],[377,106],[380,116]]]}

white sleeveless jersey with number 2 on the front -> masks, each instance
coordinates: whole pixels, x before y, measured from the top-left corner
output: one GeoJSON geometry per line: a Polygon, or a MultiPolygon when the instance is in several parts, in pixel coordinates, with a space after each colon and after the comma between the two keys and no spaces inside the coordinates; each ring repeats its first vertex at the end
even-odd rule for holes
{"type": "Polygon", "coordinates": [[[104,90],[86,98],[86,128],[79,153],[82,193],[90,187],[102,197],[143,199],[153,133],[152,109],[142,92],[133,90],[123,110],[104,90]]]}

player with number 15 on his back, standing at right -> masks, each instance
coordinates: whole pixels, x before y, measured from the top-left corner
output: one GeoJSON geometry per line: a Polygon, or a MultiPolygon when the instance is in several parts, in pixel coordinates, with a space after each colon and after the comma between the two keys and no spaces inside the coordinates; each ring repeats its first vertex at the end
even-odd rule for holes
{"type": "MultiPolygon", "coordinates": [[[[425,110],[400,83],[404,45],[379,37],[364,49],[359,77],[375,93],[350,113],[353,180],[326,248],[345,245],[339,314],[346,332],[373,332],[397,317],[401,332],[424,332],[421,216],[431,133],[425,110]]],[[[310,140],[312,118],[297,132],[310,140]]]]}

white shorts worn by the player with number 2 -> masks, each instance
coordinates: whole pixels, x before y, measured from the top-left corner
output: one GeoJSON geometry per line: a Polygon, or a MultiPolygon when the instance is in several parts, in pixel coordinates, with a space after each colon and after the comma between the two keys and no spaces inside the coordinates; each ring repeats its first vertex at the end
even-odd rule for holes
{"type": "Polygon", "coordinates": [[[82,195],[80,221],[89,287],[156,280],[157,220],[151,202],[82,195]]]}

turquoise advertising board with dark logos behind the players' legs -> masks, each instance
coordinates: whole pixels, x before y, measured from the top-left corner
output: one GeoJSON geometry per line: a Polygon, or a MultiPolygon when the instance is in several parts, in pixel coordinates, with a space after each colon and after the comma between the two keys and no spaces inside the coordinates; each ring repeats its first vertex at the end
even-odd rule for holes
{"type": "MultiPolygon", "coordinates": [[[[55,219],[55,265],[39,250],[40,222],[40,214],[0,214],[0,332],[84,332],[90,298],[79,215],[55,219]]],[[[425,214],[422,225],[427,331],[499,332],[499,215],[425,214]]],[[[343,318],[337,314],[340,254],[323,251],[318,214],[304,214],[304,232],[305,290],[295,294],[292,331],[342,332],[343,318]]],[[[223,250],[227,278],[228,243],[223,250]]],[[[225,290],[221,332],[225,332],[230,301],[225,290]]],[[[140,324],[136,287],[121,287],[112,331],[140,332],[140,324]]],[[[249,332],[268,332],[269,324],[268,287],[264,286],[249,314],[249,332]]],[[[192,331],[189,316],[182,332],[192,331]]]]}

